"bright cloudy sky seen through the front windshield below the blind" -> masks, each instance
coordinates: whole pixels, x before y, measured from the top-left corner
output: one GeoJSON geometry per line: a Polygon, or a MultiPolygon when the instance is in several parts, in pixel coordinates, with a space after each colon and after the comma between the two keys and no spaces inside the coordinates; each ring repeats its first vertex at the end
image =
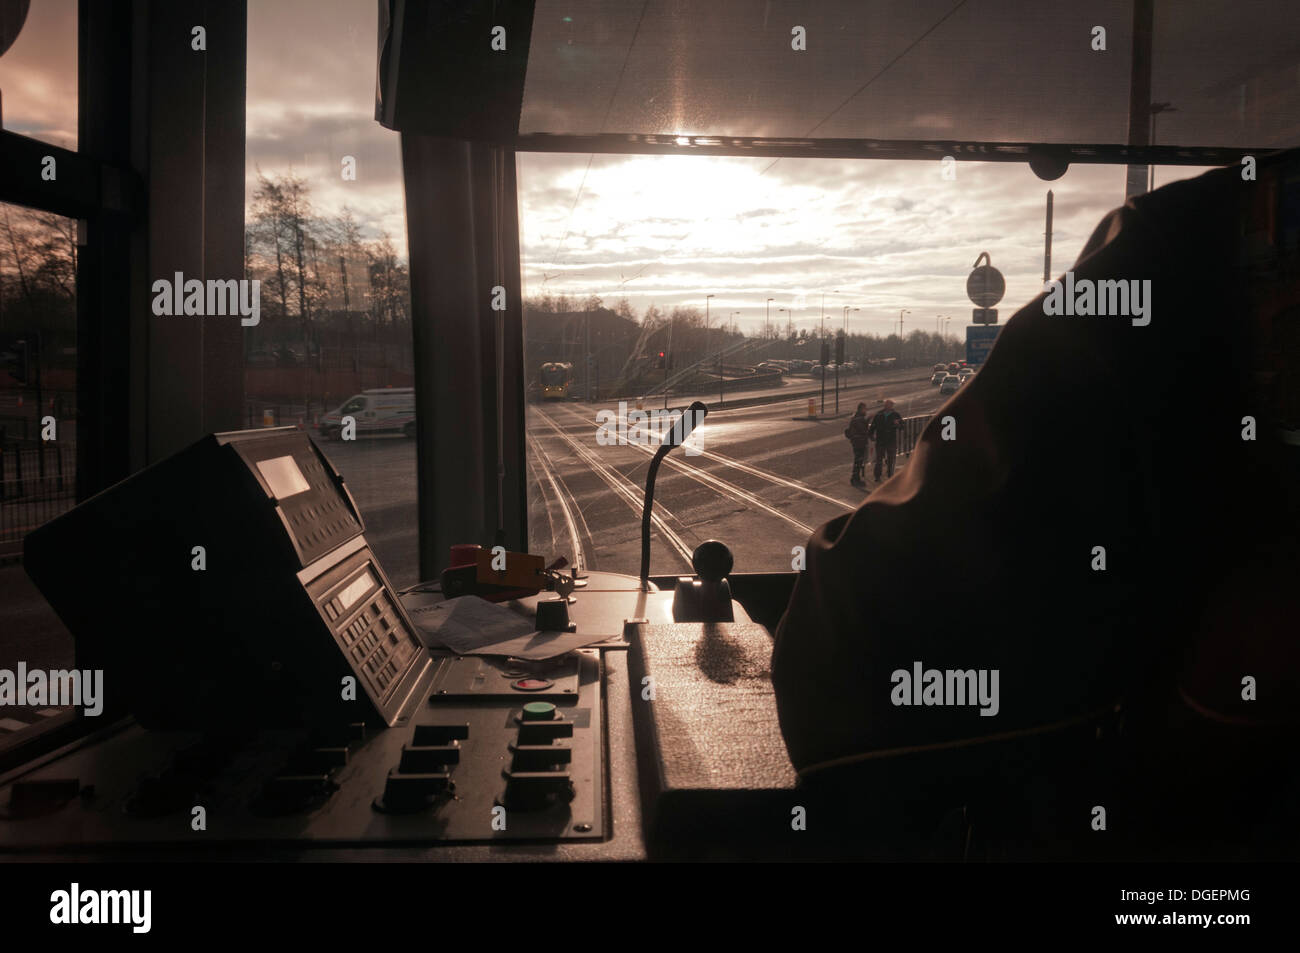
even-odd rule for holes
{"type": "MultiPolygon", "coordinates": [[[[520,160],[529,293],[625,295],[772,320],[887,334],[970,321],[966,276],[989,252],[1006,306],[1037,294],[1049,183],[1010,163],[530,155],[520,160]],[[766,172],[764,172],[766,170],[766,172]],[[585,173],[585,183],[584,183],[585,173]],[[575,195],[581,186],[576,207],[575,195]],[[571,215],[572,209],[572,215],[571,215]],[[566,235],[567,231],[567,235],[566,235]],[[554,276],[554,277],[552,277],[554,276]],[[836,294],[832,294],[836,293],[836,294]],[[777,308],[790,308],[792,313],[777,308]],[[833,324],[832,324],[833,321],[833,324]]],[[[1054,192],[1053,272],[1065,270],[1105,212],[1123,203],[1123,170],[1078,166],[1054,192]]]]}

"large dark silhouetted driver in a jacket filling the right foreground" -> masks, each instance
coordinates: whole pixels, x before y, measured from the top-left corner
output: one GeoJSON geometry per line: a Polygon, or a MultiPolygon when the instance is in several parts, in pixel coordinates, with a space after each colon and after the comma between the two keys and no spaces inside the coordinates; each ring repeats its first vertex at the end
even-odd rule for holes
{"type": "Polygon", "coordinates": [[[1131,315],[1036,296],[906,472],[811,537],[772,654],[801,776],[1121,698],[1300,725],[1300,151],[1254,159],[1108,215],[1060,285],[1131,315]]]}

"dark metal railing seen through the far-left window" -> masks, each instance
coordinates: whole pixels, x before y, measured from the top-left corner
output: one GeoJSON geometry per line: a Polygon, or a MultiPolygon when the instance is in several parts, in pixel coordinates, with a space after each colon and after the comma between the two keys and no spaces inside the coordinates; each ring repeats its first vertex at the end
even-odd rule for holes
{"type": "Polygon", "coordinates": [[[21,540],[75,503],[75,445],[0,446],[0,542],[21,540]]]}

